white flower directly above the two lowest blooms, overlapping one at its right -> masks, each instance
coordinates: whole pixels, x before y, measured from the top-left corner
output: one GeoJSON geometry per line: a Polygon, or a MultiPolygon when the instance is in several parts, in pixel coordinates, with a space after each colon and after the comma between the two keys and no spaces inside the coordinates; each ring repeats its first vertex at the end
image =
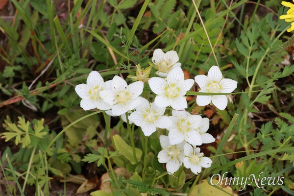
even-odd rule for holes
{"type": "MultiPolygon", "coordinates": [[[[183,109],[184,110],[184,109],[183,109]]],[[[201,123],[201,116],[191,115],[186,111],[172,110],[172,125],[167,129],[172,145],[179,144],[184,140],[193,146],[202,145],[202,139],[197,131],[201,123]]]]}

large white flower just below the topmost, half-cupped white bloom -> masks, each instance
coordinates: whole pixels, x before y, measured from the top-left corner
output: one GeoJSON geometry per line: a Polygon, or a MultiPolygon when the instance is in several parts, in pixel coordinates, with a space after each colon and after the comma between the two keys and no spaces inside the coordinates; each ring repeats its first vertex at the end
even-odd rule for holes
{"type": "Polygon", "coordinates": [[[161,77],[152,77],[148,83],[151,91],[157,94],[154,102],[158,107],[172,106],[176,110],[188,107],[185,95],[193,86],[194,80],[185,80],[181,68],[172,69],[167,80],[161,77]]]}

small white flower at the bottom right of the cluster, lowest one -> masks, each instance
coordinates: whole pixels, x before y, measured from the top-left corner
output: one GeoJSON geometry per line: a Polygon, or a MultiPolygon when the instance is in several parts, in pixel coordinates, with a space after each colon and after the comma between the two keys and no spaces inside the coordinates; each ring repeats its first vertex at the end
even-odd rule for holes
{"type": "Polygon", "coordinates": [[[203,153],[200,152],[200,148],[196,147],[195,152],[193,147],[190,144],[185,144],[184,146],[185,157],[184,166],[187,169],[191,168],[191,171],[195,174],[201,172],[202,168],[211,167],[212,161],[210,158],[203,156],[203,153]]]}

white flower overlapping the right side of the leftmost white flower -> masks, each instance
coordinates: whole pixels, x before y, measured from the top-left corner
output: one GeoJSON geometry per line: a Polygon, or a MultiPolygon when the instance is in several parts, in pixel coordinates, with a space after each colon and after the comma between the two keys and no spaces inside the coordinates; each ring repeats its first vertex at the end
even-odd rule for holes
{"type": "Polygon", "coordinates": [[[116,75],[112,79],[111,90],[101,91],[100,96],[111,106],[112,114],[120,116],[140,104],[138,97],[143,88],[144,83],[141,81],[127,85],[123,78],[116,75]]]}

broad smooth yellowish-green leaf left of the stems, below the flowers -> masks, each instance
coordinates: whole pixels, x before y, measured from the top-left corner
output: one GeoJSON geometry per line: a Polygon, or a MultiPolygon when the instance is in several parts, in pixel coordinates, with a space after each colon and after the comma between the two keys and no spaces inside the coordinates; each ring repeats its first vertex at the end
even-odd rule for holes
{"type": "MultiPolygon", "coordinates": [[[[125,158],[127,158],[132,165],[135,165],[136,160],[134,159],[133,148],[126,144],[126,142],[123,141],[123,138],[119,135],[114,135],[113,140],[117,150],[119,150],[120,153],[122,153],[123,156],[125,156],[125,158]]],[[[139,148],[135,148],[135,150],[137,160],[140,161],[143,152],[139,148]]]]}

